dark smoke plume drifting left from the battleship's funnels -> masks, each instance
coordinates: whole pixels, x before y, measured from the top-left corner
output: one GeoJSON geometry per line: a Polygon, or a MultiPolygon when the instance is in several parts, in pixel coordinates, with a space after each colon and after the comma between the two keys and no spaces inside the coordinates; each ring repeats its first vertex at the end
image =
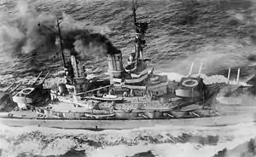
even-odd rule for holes
{"type": "MultiPolygon", "coordinates": [[[[70,19],[65,15],[62,17],[64,49],[75,49],[81,56],[119,53],[108,38],[84,29],[81,22],[70,19]]],[[[15,55],[46,54],[50,49],[60,48],[55,15],[38,13],[26,3],[19,2],[15,13],[2,15],[0,20],[3,21],[0,42],[9,45],[15,55]]]]}

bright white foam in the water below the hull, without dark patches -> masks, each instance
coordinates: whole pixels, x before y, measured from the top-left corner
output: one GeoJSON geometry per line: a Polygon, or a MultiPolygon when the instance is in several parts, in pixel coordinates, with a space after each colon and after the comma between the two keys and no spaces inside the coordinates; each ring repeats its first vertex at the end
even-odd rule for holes
{"type": "Polygon", "coordinates": [[[45,129],[36,127],[25,128],[12,128],[9,126],[3,126],[0,128],[1,140],[0,148],[3,149],[3,156],[16,156],[17,154],[28,152],[32,154],[50,155],[50,154],[65,154],[70,148],[74,146],[84,149],[90,157],[112,157],[112,156],[131,156],[133,154],[145,152],[151,150],[155,156],[167,157],[185,157],[185,156],[212,156],[216,154],[218,150],[223,148],[235,148],[242,142],[246,142],[250,138],[256,137],[256,125],[254,124],[240,124],[230,125],[222,127],[178,127],[178,126],[161,126],[149,129],[136,129],[131,131],[67,131],[59,129],[45,129]],[[46,140],[55,138],[56,136],[79,136],[92,141],[98,141],[101,143],[107,142],[109,145],[102,148],[94,148],[94,146],[88,146],[87,143],[79,144],[70,137],[61,137],[54,139],[51,143],[44,148],[44,143],[41,140],[36,140],[33,137],[23,139],[22,142],[16,143],[17,139],[22,134],[26,134],[29,131],[40,131],[46,137],[46,140]],[[195,142],[186,143],[166,143],[164,142],[165,136],[178,137],[181,134],[186,133],[193,136],[219,136],[219,142],[217,145],[201,145],[195,142]],[[133,146],[121,144],[122,140],[126,142],[132,140],[139,140],[139,137],[153,137],[163,139],[164,143],[149,143],[141,140],[133,146]],[[3,138],[4,137],[4,138],[3,138]],[[4,144],[3,144],[4,143],[4,144]],[[115,144],[114,144],[115,143],[115,144]],[[79,146],[78,146],[79,144],[79,146]]]}

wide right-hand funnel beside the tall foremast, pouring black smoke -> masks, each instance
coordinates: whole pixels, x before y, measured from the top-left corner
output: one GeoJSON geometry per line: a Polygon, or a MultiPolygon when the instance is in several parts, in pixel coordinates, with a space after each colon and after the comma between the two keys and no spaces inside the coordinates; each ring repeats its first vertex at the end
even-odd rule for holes
{"type": "Polygon", "coordinates": [[[114,53],[108,53],[108,73],[110,84],[114,83],[114,78],[122,78],[123,73],[123,59],[120,50],[114,53]]]}

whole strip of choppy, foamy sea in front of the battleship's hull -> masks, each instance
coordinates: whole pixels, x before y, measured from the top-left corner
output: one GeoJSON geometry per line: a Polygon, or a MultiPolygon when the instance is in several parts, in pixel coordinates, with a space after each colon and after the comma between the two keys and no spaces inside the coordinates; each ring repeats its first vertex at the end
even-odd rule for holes
{"type": "Polygon", "coordinates": [[[101,132],[1,125],[0,149],[3,157],[70,155],[70,151],[73,155],[91,157],[125,157],[142,152],[147,152],[144,156],[210,157],[223,148],[235,148],[256,137],[255,130],[253,124],[222,127],[169,125],[101,132]]]}

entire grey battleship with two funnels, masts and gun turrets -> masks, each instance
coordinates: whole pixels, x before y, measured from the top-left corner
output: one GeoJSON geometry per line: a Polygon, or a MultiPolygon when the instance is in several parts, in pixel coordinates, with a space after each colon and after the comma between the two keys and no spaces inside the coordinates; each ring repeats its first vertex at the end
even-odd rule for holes
{"type": "MultiPolygon", "coordinates": [[[[201,77],[202,63],[193,74],[193,62],[189,74],[179,81],[155,73],[147,64],[150,58],[143,56],[148,22],[137,21],[135,3],[133,0],[135,49],[126,65],[119,49],[108,49],[108,74],[88,77],[75,49],[66,61],[58,22],[66,83],[44,88],[49,72],[41,72],[32,84],[11,84],[1,91],[0,124],[102,131],[254,121],[255,108],[225,106],[217,101],[219,91],[230,86],[230,72],[227,83],[210,84],[201,77]]],[[[240,69],[237,79],[239,73],[240,69]]]]}

